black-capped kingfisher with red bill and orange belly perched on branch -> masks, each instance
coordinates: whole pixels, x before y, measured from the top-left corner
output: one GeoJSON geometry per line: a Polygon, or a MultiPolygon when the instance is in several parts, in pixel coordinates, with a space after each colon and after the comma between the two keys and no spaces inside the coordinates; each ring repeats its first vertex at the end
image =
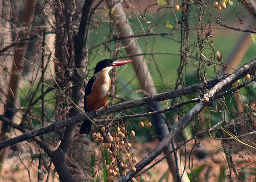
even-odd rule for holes
{"type": "MultiPolygon", "coordinates": [[[[101,107],[107,107],[108,92],[111,86],[111,79],[108,72],[115,66],[121,66],[132,62],[132,60],[104,59],[97,63],[92,78],[88,81],[84,92],[85,112],[94,111],[101,107]]],[[[80,134],[91,132],[92,121],[84,120],[80,134]]]]}

